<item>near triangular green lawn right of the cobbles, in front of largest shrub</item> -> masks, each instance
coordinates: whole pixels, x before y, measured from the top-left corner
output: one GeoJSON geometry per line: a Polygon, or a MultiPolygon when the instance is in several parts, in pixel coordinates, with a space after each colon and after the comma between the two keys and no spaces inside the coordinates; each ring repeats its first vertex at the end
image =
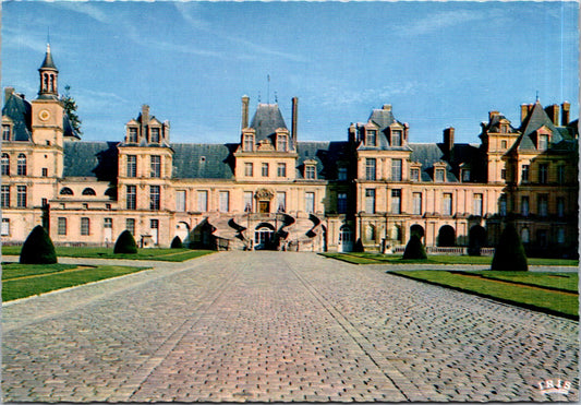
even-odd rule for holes
{"type": "Polygon", "coordinates": [[[447,272],[447,271],[397,271],[389,272],[408,278],[435,284],[481,297],[492,298],[501,302],[520,306],[545,313],[579,320],[579,295],[577,286],[579,275],[577,273],[520,273],[517,272],[447,272]],[[498,274],[491,274],[498,273],[498,274]],[[481,275],[484,277],[474,277],[481,275]],[[496,279],[489,278],[491,276],[496,279]],[[561,276],[561,277],[559,277],[561,276]],[[562,281],[558,281],[562,278],[562,281]],[[548,290],[524,284],[549,286],[566,289],[569,293],[548,290]],[[573,293],[570,293],[574,290],[573,293]]]}

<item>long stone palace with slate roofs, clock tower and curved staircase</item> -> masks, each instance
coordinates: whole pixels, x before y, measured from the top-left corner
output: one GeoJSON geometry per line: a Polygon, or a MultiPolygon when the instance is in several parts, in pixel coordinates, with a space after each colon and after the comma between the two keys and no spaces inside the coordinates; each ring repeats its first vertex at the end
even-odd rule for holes
{"type": "Polygon", "coordinates": [[[229,144],[170,142],[143,106],[117,142],[85,142],[58,94],[47,48],[37,98],[4,90],[1,237],[22,243],[44,225],[56,245],[110,246],[129,229],[143,247],[401,249],[493,247],[506,221],[536,252],[578,246],[578,120],[570,105],[522,105],[521,122],[492,111],[480,143],[413,143],[390,105],[352,123],[347,141],[301,142],[277,104],[229,144]]]}

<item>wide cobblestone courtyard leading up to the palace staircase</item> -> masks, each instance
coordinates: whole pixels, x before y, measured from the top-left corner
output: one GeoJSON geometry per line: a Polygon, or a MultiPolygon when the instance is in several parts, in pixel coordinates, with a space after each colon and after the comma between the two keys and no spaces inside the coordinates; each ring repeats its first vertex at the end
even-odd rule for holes
{"type": "Polygon", "coordinates": [[[312,253],[159,263],[2,326],[4,402],[578,400],[577,322],[312,253]]]}

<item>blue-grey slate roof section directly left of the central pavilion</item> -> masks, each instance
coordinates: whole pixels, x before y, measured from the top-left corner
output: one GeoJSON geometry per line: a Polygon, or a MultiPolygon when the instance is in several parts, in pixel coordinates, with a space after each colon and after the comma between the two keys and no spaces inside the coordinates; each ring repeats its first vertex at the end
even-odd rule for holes
{"type": "Polygon", "coordinates": [[[238,144],[172,143],[173,178],[232,179],[238,144]]]}

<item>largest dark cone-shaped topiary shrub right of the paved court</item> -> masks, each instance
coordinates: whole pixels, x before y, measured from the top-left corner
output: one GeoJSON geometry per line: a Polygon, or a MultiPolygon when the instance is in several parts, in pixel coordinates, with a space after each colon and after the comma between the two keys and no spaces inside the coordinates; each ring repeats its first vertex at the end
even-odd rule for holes
{"type": "Polygon", "coordinates": [[[491,269],[507,272],[525,272],[529,270],[524,247],[515,225],[511,223],[508,223],[503,234],[500,234],[491,269]]]}

